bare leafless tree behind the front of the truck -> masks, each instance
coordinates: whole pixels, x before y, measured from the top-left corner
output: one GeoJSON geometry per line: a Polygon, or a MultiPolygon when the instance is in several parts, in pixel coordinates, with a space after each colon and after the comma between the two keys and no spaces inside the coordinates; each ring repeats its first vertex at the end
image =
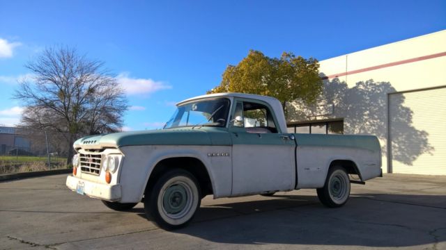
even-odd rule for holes
{"type": "Polygon", "coordinates": [[[15,91],[25,105],[21,125],[59,133],[68,144],[67,163],[75,138],[115,132],[123,125],[127,99],[103,65],[75,49],[47,48],[25,65],[33,78],[15,91]]]}

